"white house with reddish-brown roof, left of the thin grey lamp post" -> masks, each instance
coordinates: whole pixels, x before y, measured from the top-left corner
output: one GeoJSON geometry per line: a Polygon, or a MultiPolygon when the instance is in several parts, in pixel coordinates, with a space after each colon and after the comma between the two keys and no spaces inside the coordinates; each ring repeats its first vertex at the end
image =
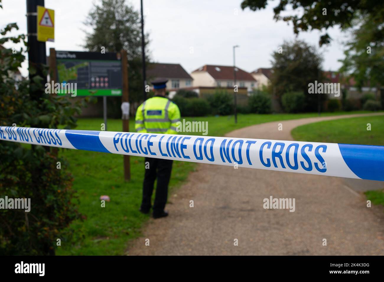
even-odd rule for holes
{"type": "MultiPolygon", "coordinates": [[[[194,87],[233,88],[233,66],[204,65],[192,71],[194,87]]],[[[235,67],[238,88],[251,92],[256,87],[256,80],[247,71],[235,67]]]]}

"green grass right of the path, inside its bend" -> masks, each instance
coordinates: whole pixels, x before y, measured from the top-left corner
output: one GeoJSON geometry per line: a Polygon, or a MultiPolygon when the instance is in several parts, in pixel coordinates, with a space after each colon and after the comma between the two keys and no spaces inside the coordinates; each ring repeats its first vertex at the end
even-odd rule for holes
{"type": "MultiPolygon", "coordinates": [[[[305,124],[291,131],[295,140],[346,143],[361,145],[384,145],[384,116],[336,119],[305,124]],[[367,123],[371,130],[367,130],[367,123]]],[[[367,191],[372,204],[384,205],[384,190],[367,191]]]]}

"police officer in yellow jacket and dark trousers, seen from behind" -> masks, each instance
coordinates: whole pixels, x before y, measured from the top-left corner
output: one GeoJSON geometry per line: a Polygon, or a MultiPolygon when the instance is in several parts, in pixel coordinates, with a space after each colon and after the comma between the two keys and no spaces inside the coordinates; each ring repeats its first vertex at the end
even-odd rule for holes
{"type": "MultiPolygon", "coordinates": [[[[166,98],[166,83],[168,80],[158,79],[151,81],[155,96],[144,101],[136,112],[135,129],[140,133],[177,134],[176,126],[180,121],[179,107],[166,98]]],[[[172,160],[145,158],[146,165],[143,198],[140,211],[147,214],[151,209],[151,197],[155,179],[157,187],[153,205],[153,217],[168,216],[164,211],[168,195],[168,183],[172,170],[172,160]]]]}

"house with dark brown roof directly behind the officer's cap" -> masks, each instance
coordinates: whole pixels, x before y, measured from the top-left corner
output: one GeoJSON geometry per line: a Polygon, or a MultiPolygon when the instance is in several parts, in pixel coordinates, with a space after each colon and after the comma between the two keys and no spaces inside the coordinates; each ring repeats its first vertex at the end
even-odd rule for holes
{"type": "Polygon", "coordinates": [[[167,79],[167,90],[170,93],[180,88],[192,86],[193,78],[180,64],[150,63],[146,71],[149,82],[158,78],[167,79]]]}

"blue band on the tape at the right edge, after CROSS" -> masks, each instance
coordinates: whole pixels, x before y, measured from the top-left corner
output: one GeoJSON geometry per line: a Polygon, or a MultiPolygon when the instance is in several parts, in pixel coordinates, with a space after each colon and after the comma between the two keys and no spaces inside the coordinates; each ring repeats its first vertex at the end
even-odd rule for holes
{"type": "Polygon", "coordinates": [[[384,181],[384,146],[338,144],[351,171],[362,179],[384,181]]]}

